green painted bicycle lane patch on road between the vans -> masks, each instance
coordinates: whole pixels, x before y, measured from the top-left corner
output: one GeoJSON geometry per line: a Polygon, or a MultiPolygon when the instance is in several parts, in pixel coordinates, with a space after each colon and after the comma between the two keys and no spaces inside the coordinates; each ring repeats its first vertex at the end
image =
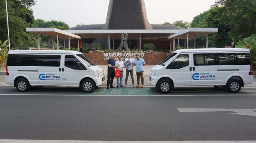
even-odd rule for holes
{"type": "Polygon", "coordinates": [[[96,88],[92,93],[83,95],[153,95],[150,88],[96,88]]]}

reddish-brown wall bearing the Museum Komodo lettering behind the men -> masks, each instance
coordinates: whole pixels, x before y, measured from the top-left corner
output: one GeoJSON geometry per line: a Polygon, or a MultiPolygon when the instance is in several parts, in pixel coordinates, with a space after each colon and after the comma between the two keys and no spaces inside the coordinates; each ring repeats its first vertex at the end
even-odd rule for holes
{"type": "MultiPolygon", "coordinates": [[[[107,64],[109,59],[109,53],[83,53],[86,57],[92,60],[97,65],[107,64]]],[[[114,59],[117,60],[118,55],[123,57],[123,61],[128,57],[128,53],[114,53],[114,59]]],[[[145,60],[147,65],[156,65],[167,56],[167,53],[140,53],[142,54],[141,58],[145,60]]],[[[132,53],[132,58],[135,59],[135,53],[132,53]]]]}

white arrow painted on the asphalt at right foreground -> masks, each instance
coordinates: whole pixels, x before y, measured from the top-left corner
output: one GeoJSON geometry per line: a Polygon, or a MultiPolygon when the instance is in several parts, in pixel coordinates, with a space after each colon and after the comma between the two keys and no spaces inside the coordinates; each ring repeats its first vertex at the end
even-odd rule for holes
{"type": "Polygon", "coordinates": [[[229,114],[256,116],[256,109],[219,109],[219,108],[178,108],[179,112],[236,112],[229,114]]]}

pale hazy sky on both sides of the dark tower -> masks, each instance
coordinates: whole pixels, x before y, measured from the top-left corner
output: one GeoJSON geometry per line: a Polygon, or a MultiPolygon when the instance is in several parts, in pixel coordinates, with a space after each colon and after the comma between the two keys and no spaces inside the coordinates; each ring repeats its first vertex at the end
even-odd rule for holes
{"type": "MultiPolygon", "coordinates": [[[[105,24],[109,0],[36,0],[35,19],[62,21],[70,28],[78,24],[105,24]]],[[[144,0],[150,24],[192,22],[210,9],[215,0],[144,0]]]]}

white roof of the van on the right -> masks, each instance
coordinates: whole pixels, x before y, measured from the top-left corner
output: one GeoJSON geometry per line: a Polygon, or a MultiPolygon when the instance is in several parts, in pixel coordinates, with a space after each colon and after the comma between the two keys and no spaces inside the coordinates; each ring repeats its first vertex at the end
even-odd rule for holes
{"type": "Polygon", "coordinates": [[[174,52],[250,52],[249,49],[245,48],[203,48],[203,49],[178,49],[174,52]]]}

